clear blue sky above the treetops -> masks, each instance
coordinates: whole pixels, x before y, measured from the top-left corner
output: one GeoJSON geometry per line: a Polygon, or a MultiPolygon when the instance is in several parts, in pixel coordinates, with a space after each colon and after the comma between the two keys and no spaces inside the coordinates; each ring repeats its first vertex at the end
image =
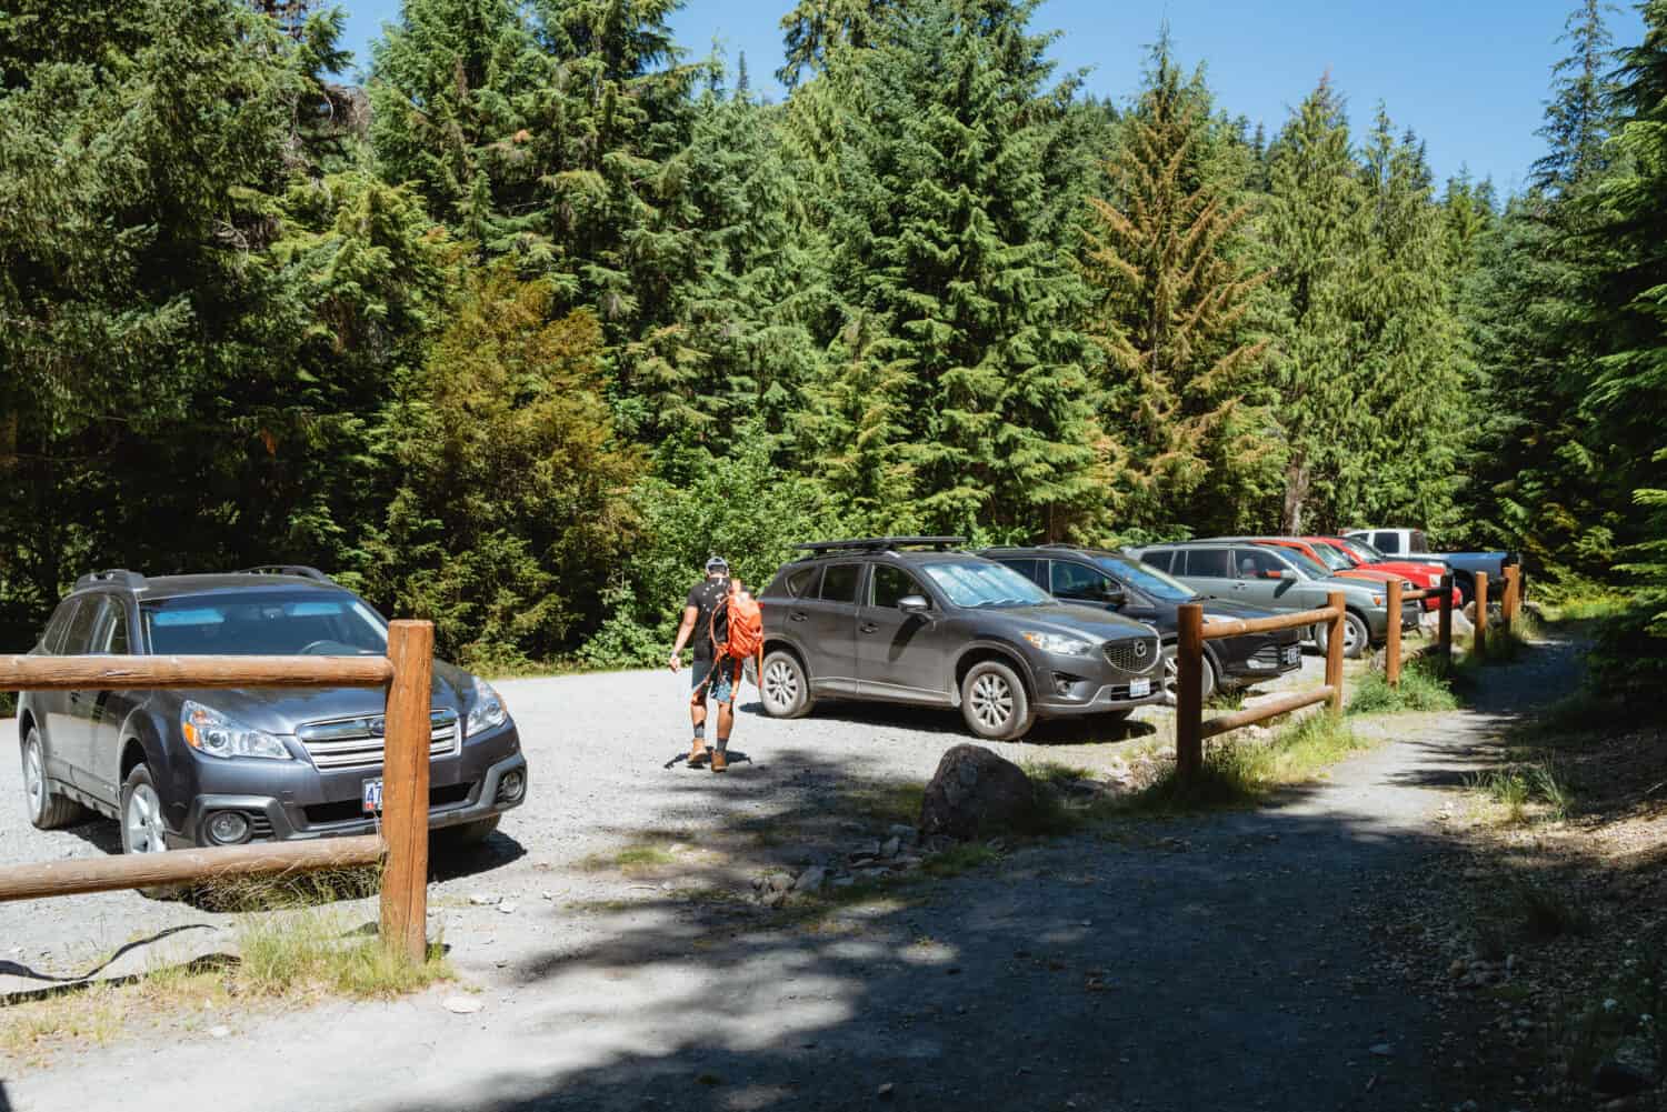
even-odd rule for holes
{"type": "MultiPolygon", "coordinates": [[[[398,0],[340,0],[347,42],[367,67],[368,42],[398,18],[398,0]]],[[[705,53],[717,40],[728,58],[745,52],[753,87],[780,97],[777,27],[790,0],[688,0],[673,20],[678,42],[705,53]]],[[[1517,188],[1540,153],[1534,135],[1557,45],[1574,0],[1044,0],[1035,27],[1064,32],[1054,57],[1089,67],[1092,92],[1127,98],[1140,82],[1145,43],[1162,20],[1180,57],[1204,62],[1229,112],[1279,128],[1290,107],[1330,70],[1349,97],[1357,128],[1379,100],[1399,127],[1429,143],[1435,173],[1469,167],[1500,190],[1517,188]]],[[[1632,7],[1612,15],[1617,45],[1637,42],[1632,7]]]]}

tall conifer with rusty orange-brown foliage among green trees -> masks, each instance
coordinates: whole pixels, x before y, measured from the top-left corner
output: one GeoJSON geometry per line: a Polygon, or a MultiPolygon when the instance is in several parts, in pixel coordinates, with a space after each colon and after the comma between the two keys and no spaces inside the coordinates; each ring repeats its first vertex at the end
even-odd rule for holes
{"type": "Polygon", "coordinates": [[[1100,292],[1102,423],[1125,535],[1207,528],[1212,510],[1222,517],[1209,492],[1242,482],[1212,475],[1212,463],[1242,473],[1269,463],[1254,435],[1269,415],[1244,405],[1267,352],[1245,317],[1269,275],[1242,260],[1245,165],[1222,132],[1202,73],[1184,80],[1160,42],[1105,163],[1107,198],[1090,200],[1085,268],[1100,292]]]}

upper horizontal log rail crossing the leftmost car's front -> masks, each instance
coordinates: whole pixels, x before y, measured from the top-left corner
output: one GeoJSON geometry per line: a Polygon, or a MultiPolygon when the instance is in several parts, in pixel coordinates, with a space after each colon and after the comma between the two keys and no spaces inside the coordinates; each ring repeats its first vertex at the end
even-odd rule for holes
{"type": "Polygon", "coordinates": [[[0,657],[0,692],[387,687],[387,657],[0,657]]]}

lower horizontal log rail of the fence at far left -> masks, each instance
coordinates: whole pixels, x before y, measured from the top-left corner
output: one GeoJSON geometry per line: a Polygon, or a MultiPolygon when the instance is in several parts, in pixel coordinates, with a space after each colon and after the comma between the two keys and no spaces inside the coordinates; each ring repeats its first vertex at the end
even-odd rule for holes
{"type": "Polygon", "coordinates": [[[362,834],[347,839],[318,839],[317,842],[263,842],[13,865],[0,870],[0,904],[82,892],[168,887],[228,877],[373,865],[382,860],[382,850],[378,835],[362,834]]]}

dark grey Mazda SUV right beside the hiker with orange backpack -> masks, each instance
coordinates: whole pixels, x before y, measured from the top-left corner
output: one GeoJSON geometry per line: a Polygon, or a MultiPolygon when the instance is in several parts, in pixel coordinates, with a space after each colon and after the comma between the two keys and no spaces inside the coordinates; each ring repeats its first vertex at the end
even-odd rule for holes
{"type": "Polygon", "coordinates": [[[1157,630],[1067,605],[959,537],[798,545],[763,604],[767,714],[818,697],[957,707],[979,737],[1164,700],[1157,630]]]}

